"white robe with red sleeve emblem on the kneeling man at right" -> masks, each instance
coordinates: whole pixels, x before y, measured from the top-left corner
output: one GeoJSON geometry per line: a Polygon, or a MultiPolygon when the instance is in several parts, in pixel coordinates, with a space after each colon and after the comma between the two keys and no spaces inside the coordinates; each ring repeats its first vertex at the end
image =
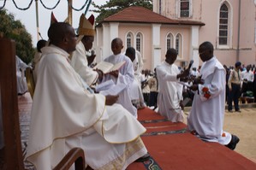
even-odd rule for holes
{"type": "Polygon", "coordinates": [[[194,93],[188,129],[206,141],[229,144],[231,135],[223,132],[226,71],[214,56],[203,63],[200,73],[205,83],[194,93]]]}

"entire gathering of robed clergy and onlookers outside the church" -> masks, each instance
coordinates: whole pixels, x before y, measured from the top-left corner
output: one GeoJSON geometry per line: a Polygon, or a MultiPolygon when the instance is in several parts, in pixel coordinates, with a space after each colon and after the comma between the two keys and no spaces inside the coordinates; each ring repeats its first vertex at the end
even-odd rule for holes
{"type": "Polygon", "coordinates": [[[235,111],[240,111],[237,97],[255,91],[253,66],[244,71],[241,62],[234,68],[223,66],[213,45],[204,42],[199,45],[203,64],[198,69],[178,67],[177,51],[171,48],[152,72],[142,69],[140,53],[133,47],[122,54],[122,39],[114,38],[113,54],[104,62],[125,63],[103,73],[92,67],[96,64],[93,24],[93,15],[89,19],[81,15],[76,35],[67,23],[54,22],[49,41],[38,47],[27,161],[37,169],[51,169],[73,147],[85,150],[86,164],[92,169],[125,169],[133,161],[146,161],[150,155],[140,138],[146,129],[137,120],[138,109],[152,107],[172,122],[184,122],[186,97],[192,101],[188,131],[235,149],[240,139],[223,131],[225,103],[231,112],[234,101],[235,111]],[[95,85],[109,80],[122,83],[124,89],[115,96],[95,91],[95,85]]]}

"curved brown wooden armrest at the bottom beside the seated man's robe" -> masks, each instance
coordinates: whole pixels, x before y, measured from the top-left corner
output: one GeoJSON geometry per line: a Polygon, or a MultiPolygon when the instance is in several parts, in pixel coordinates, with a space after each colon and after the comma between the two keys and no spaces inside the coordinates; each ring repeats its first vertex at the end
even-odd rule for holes
{"type": "Polygon", "coordinates": [[[84,150],[80,148],[74,148],[69,150],[68,154],[63,157],[53,170],[68,170],[74,164],[75,170],[85,170],[85,154],[84,150]]]}

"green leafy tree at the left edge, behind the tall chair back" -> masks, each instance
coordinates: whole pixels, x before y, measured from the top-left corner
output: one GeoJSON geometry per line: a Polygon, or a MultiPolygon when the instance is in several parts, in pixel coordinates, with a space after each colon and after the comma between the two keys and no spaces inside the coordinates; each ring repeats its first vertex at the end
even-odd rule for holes
{"type": "Polygon", "coordinates": [[[33,60],[35,49],[33,49],[32,36],[27,32],[21,21],[15,21],[12,14],[8,14],[7,10],[0,10],[0,32],[4,38],[15,40],[16,55],[23,62],[29,63],[33,60]]]}

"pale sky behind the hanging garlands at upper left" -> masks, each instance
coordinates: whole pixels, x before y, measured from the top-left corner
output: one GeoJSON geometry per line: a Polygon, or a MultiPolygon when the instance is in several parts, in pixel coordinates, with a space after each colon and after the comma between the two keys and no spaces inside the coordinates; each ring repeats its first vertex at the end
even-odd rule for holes
{"type": "MultiPolygon", "coordinates": [[[[58,0],[38,0],[38,7],[39,7],[39,32],[44,39],[48,39],[47,31],[51,23],[51,11],[57,18],[57,21],[64,21],[68,16],[68,0],[60,0],[60,3],[57,5],[56,9],[45,9],[45,7],[40,3],[42,1],[47,8],[54,7],[58,0]]],[[[97,5],[105,4],[107,0],[94,0],[93,2],[97,5]]],[[[15,3],[18,8],[15,7],[13,0],[7,0],[4,6],[4,9],[7,9],[9,13],[12,13],[15,16],[15,20],[20,20],[21,23],[26,27],[27,32],[32,35],[33,38],[33,46],[36,47],[38,42],[37,36],[37,22],[36,22],[36,5],[35,0],[31,4],[30,8],[26,9],[29,5],[31,0],[15,0],[15,3]]],[[[73,7],[74,9],[80,9],[81,6],[86,3],[86,0],[73,0],[73,7]]],[[[3,6],[3,0],[0,0],[0,6],[3,6]]],[[[92,9],[92,5],[90,6],[89,10],[92,9]]],[[[77,28],[79,26],[79,19],[80,15],[85,12],[86,8],[76,11],[73,10],[73,26],[77,28]]],[[[88,18],[92,15],[92,12],[88,11],[86,17],[88,18]]],[[[97,17],[98,14],[93,14],[97,17]]]]}

